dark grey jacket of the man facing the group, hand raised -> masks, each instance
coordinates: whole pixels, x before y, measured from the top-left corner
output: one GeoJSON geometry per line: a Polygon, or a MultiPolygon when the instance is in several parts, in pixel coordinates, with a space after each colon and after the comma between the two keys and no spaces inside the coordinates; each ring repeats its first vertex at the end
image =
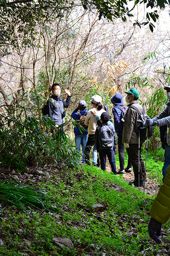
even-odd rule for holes
{"type": "Polygon", "coordinates": [[[66,101],[64,101],[60,96],[52,95],[50,99],[47,101],[48,105],[48,116],[54,121],[54,125],[63,124],[65,122],[65,118],[62,118],[62,113],[64,112],[64,108],[68,108],[70,105],[71,96],[67,96],[66,101]]]}

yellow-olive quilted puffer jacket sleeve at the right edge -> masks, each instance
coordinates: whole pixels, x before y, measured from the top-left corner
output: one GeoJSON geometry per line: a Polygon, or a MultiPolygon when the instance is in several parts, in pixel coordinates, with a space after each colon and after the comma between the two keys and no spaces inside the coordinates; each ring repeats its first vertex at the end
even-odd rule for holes
{"type": "Polygon", "coordinates": [[[151,206],[150,216],[162,224],[170,217],[170,165],[167,168],[164,183],[151,206]]]}

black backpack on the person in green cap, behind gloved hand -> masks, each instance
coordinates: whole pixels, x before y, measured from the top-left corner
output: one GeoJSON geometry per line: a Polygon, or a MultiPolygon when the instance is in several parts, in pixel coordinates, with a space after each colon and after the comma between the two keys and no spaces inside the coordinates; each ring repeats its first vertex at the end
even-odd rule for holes
{"type": "MultiPolygon", "coordinates": [[[[139,114],[139,119],[142,121],[142,122],[146,122],[146,119],[149,118],[149,116],[146,115],[146,112],[145,112],[145,109],[144,107],[143,108],[143,112],[142,114],[140,113],[140,111],[135,107],[135,106],[130,106],[129,108],[134,108],[138,114],[139,114]]],[[[146,140],[147,137],[148,139],[149,138],[152,138],[153,136],[153,130],[154,130],[154,127],[153,126],[147,126],[145,128],[140,128],[140,139],[141,140],[146,140]]],[[[134,130],[135,131],[135,130],[134,130]]],[[[135,131],[137,136],[139,136],[139,130],[138,131],[135,131]]]]}

